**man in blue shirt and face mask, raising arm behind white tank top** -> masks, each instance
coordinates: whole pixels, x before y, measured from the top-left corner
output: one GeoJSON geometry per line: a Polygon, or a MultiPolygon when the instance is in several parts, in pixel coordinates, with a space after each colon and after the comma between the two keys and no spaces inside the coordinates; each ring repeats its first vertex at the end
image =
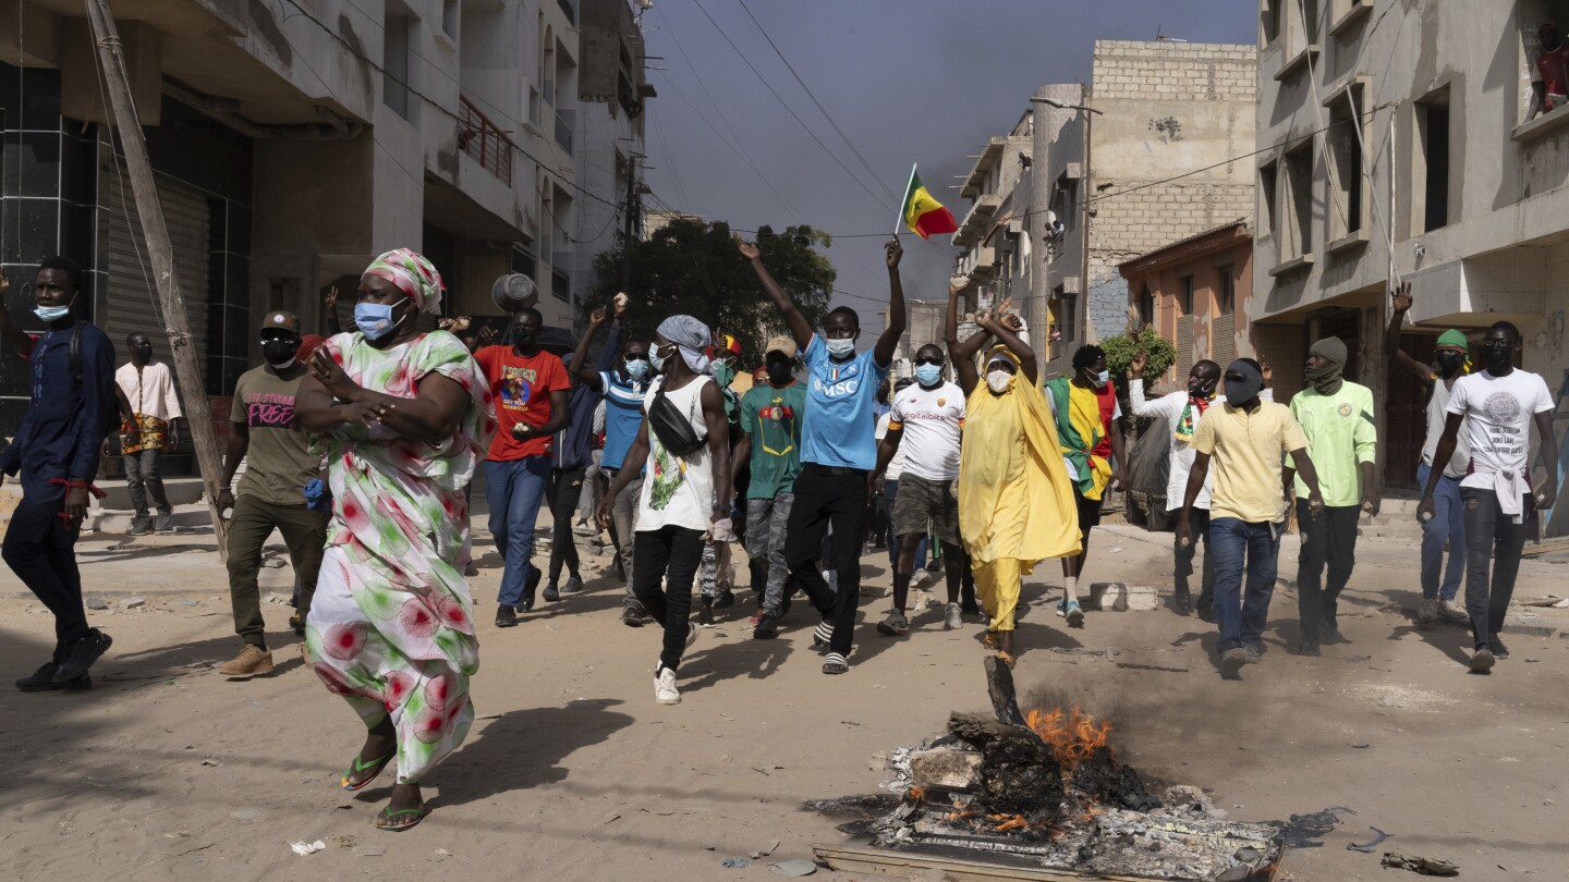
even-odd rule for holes
{"type": "MultiPolygon", "coordinates": [[[[648,367],[648,341],[624,339],[626,328],[621,325],[621,314],[626,312],[623,298],[617,298],[610,319],[610,336],[599,352],[599,364],[585,367],[588,358],[588,341],[593,339],[599,326],[604,325],[604,309],[596,309],[588,317],[588,330],[577,344],[573,364],[568,374],[581,380],[595,392],[604,395],[604,450],[599,454],[599,469],[613,483],[626,450],[632,447],[637,430],[643,425],[643,395],[648,394],[651,380],[648,367]],[[620,359],[617,359],[620,353],[620,359]],[[620,364],[615,364],[620,361],[620,364]]],[[[626,582],[626,598],[621,601],[621,621],[632,628],[642,628],[648,614],[643,604],[632,595],[632,534],[637,529],[637,497],[643,490],[642,472],[632,479],[626,490],[615,497],[610,508],[610,535],[617,543],[617,570],[626,582]]]]}

